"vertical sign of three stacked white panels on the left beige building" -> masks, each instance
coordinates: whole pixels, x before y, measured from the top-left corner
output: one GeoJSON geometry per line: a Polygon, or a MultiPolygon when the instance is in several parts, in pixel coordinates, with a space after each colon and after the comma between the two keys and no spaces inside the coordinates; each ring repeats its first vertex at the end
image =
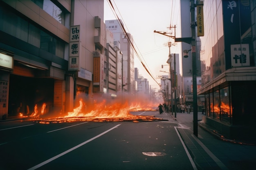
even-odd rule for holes
{"type": "Polygon", "coordinates": [[[81,42],[80,42],[80,25],[70,26],[70,57],[69,57],[69,68],[70,71],[79,71],[79,59],[81,53],[81,42]]]}

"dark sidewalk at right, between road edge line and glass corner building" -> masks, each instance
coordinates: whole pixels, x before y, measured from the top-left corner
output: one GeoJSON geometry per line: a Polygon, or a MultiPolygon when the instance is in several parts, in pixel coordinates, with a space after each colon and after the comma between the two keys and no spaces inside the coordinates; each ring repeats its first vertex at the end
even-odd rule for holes
{"type": "Polygon", "coordinates": [[[169,113],[198,170],[256,170],[256,146],[232,143],[211,133],[201,124],[198,112],[198,137],[193,134],[193,112],[169,113]]]}

